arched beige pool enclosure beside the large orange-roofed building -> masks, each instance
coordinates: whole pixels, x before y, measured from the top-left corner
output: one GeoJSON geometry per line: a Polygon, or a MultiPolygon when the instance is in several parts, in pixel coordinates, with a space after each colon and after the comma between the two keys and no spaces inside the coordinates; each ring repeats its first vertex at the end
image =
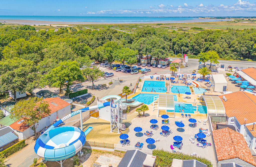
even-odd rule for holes
{"type": "MultiPolygon", "coordinates": [[[[207,108],[207,117],[211,116],[215,119],[225,119],[226,113],[225,108],[221,99],[218,96],[206,96],[202,95],[200,97],[200,103],[207,108]]],[[[222,122],[222,121],[217,121],[222,122]]]]}

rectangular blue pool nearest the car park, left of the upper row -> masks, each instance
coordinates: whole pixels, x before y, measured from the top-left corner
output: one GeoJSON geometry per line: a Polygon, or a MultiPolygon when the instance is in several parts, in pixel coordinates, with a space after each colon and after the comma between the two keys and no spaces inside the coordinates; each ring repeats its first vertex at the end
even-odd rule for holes
{"type": "Polygon", "coordinates": [[[166,92],[165,81],[144,81],[142,92],[166,92]]]}

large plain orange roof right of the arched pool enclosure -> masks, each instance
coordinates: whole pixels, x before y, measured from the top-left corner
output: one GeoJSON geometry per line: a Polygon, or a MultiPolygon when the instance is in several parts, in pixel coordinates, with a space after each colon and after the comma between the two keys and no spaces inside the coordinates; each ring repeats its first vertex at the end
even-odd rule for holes
{"type": "Polygon", "coordinates": [[[244,118],[247,118],[246,123],[256,122],[256,96],[245,91],[228,93],[224,96],[227,101],[222,99],[223,95],[220,95],[219,98],[221,98],[228,117],[236,117],[241,125],[245,124],[244,118]]]}

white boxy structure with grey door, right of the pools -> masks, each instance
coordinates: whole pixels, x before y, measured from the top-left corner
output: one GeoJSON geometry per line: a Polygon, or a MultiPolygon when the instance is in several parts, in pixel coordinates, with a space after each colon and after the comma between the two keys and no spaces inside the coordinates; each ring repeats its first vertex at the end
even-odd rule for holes
{"type": "Polygon", "coordinates": [[[212,74],[212,88],[215,92],[225,92],[228,82],[223,74],[212,74]]]}

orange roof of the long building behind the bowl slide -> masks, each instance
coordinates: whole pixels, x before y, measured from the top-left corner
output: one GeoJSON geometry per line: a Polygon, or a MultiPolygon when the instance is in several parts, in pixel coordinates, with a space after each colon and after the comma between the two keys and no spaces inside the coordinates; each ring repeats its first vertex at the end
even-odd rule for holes
{"type": "MultiPolygon", "coordinates": [[[[70,104],[58,97],[53,97],[53,98],[46,98],[44,99],[44,101],[47,101],[48,104],[49,104],[49,109],[51,109],[51,112],[50,114],[62,109],[62,108],[65,108],[67,106],[70,106],[70,104]]],[[[49,115],[50,115],[49,114],[49,115]]],[[[29,128],[29,126],[26,126],[22,119],[12,123],[10,125],[11,128],[17,130],[17,131],[20,131],[20,132],[24,132],[26,129],[29,128]]]]}

